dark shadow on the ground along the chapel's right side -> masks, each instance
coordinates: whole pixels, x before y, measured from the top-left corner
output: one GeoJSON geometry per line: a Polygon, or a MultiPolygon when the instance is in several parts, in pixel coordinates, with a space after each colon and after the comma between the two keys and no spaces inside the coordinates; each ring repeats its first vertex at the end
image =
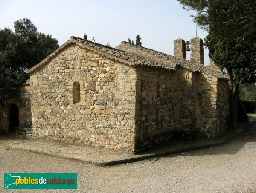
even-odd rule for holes
{"type": "MultiPolygon", "coordinates": [[[[181,155],[184,152],[191,154],[192,152],[204,152],[204,154],[236,154],[238,153],[247,143],[256,141],[256,114],[253,116],[250,115],[249,123],[238,123],[238,130],[227,130],[227,133],[220,136],[215,140],[210,139],[195,139],[195,140],[183,140],[183,139],[174,139],[170,140],[164,144],[157,145],[148,150],[145,150],[140,155],[146,154],[156,154],[158,156],[169,156],[173,157],[174,155],[181,155]],[[252,125],[251,125],[252,124],[252,125]],[[249,125],[251,125],[249,127],[249,125]],[[241,131],[241,128],[245,128],[241,131]],[[238,131],[241,131],[238,133],[238,131]],[[236,134],[235,134],[236,133],[236,134]],[[234,135],[235,134],[235,135],[234,135]],[[219,146],[224,146],[221,150],[218,149],[219,146]],[[207,149],[203,151],[201,149],[207,149]],[[195,151],[193,151],[195,150],[195,151]]],[[[198,154],[197,154],[198,155],[198,154]]]]}

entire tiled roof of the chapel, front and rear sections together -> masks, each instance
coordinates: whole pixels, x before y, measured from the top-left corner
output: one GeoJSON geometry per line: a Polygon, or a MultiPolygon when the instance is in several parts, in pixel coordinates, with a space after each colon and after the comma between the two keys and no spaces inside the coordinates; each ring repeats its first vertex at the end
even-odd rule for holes
{"type": "MultiPolygon", "coordinates": [[[[44,66],[47,62],[49,62],[55,55],[57,55],[61,50],[67,47],[70,44],[76,44],[83,48],[92,50],[93,52],[98,53],[99,55],[105,56],[110,59],[117,60],[121,63],[125,63],[131,66],[150,66],[150,67],[158,67],[170,70],[176,70],[177,66],[183,66],[185,69],[189,69],[192,72],[203,72],[208,75],[212,75],[218,78],[227,78],[223,72],[221,72],[218,68],[212,68],[209,66],[202,66],[201,64],[191,62],[189,60],[183,60],[162,52],[157,52],[152,49],[144,48],[142,46],[136,46],[134,44],[123,41],[120,45],[124,45],[126,47],[133,47],[138,50],[142,50],[145,53],[148,53],[152,57],[142,56],[137,52],[128,53],[126,50],[120,50],[111,48],[108,46],[101,45],[99,43],[94,43],[92,41],[84,40],[79,37],[72,36],[70,40],[60,46],[57,50],[52,52],[47,58],[42,60],[37,65],[33,66],[29,69],[28,73],[32,73],[35,70],[44,66]]],[[[120,46],[119,45],[119,46],[120,46]]],[[[119,47],[117,46],[117,48],[119,47]]]]}

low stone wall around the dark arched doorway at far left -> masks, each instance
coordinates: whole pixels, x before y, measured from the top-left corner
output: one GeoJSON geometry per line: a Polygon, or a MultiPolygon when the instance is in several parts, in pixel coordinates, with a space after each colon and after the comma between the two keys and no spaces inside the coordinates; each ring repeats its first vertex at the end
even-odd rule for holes
{"type": "MultiPolygon", "coordinates": [[[[0,105],[0,130],[3,133],[10,132],[10,112],[9,107],[12,104],[17,105],[19,108],[19,127],[22,129],[31,127],[31,107],[30,107],[30,87],[29,81],[23,84],[20,88],[20,97],[19,98],[10,98],[8,101],[5,101],[4,106],[0,105]]],[[[17,132],[17,131],[16,131],[17,132]]],[[[31,133],[24,133],[23,137],[29,137],[31,133]],[[28,135],[26,135],[28,134],[28,135]],[[30,135],[29,135],[30,134],[30,135]]]]}

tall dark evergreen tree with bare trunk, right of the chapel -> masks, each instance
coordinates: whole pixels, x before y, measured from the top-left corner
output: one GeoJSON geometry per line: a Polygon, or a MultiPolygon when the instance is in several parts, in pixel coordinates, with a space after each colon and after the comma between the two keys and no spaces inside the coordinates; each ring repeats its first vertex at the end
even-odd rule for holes
{"type": "Polygon", "coordinates": [[[209,32],[209,56],[230,78],[230,127],[236,128],[238,88],[256,81],[256,6],[253,0],[178,0],[196,12],[194,21],[209,32]]]}

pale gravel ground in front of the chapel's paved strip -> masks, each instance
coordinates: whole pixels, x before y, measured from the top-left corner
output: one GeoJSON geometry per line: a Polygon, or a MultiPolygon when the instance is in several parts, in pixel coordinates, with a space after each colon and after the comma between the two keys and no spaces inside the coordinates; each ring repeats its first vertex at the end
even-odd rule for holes
{"type": "Polygon", "coordinates": [[[0,135],[0,192],[256,192],[256,124],[218,147],[111,167],[7,150],[12,138],[0,135]],[[78,189],[6,191],[4,173],[78,173],[78,189]]]}

